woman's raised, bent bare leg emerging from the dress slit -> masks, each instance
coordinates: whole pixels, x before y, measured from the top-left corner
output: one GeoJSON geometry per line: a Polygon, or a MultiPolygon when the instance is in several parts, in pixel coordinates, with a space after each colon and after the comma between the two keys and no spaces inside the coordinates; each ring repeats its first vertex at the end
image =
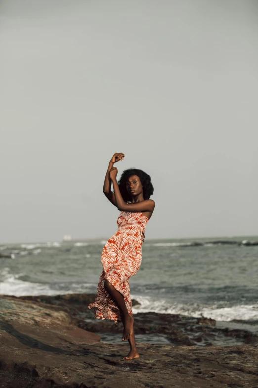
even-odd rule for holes
{"type": "Polygon", "coordinates": [[[113,300],[115,305],[119,308],[121,319],[124,326],[124,333],[122,340],[126,341],[129,339],[131,334],[133,333],[133,318],[131,314],[128,314],[126,302],[124,299],[124,296],[116,290],[116,288],[108,281],[107,279],[104,280],[104,288],[109,294],[110,298],[113,300]]]}

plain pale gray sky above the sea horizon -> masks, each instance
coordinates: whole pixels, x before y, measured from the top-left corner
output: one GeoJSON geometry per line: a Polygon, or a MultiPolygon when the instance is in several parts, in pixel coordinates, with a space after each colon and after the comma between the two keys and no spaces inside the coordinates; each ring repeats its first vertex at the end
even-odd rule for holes
{"type": "Polygon", "coordinates": [[[111,236],[115,152],[146,238],[257,234],[257,1],[2,0],[0,55],[0,242],[111,236]]]}

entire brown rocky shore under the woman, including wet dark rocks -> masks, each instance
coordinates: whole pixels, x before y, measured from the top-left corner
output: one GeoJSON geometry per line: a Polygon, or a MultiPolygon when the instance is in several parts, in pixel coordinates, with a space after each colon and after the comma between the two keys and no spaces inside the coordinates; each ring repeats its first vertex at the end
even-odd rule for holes
{"type": "Polygon", "coordinates": [[[256,334],[207,318],[138,313],[136,334],[163,334],[169,343],[138,343],[140,358],[126,361],[127,343],[100,341],[102,333],[122,337],[122,326],[94,320],[93,299],[1,295],[0,387],[258,388],[256,334]]]}

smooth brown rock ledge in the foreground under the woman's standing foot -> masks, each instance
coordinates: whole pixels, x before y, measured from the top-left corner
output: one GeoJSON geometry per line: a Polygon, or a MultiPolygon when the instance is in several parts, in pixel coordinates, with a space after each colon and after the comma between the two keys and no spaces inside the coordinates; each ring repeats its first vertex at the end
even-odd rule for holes
{"type": "MultiPolygon", "coordinates": [[[[122,342],[122,341],[121,341],[122,342]]],[[[0,388],[258,388],[258,345],[100,342],[61,306],[0,295],[0,388]]]]}

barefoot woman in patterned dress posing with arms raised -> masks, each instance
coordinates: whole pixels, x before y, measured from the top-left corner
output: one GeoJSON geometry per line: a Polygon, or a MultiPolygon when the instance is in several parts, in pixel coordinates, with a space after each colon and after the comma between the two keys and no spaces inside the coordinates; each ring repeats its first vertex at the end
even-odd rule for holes
{"type": "Polygon", "coordinates": [[[145,226],[151,218],[155,202],[151,178],[144,171],[129,168],[117,182],[118,170],[114,163],[123,161],[125,155],[116,153],[109,162],[103,192],[109,201],[121,211],[118,231],[104,246],[101,262],[103,271],[99,278],[97,296],[88,308],[95,308],[98,319],[122,321],[122,340],[129,341],[130,351],[126,360],[138,358],[133,331],[132,306],[129,278],[135,275],[141,265],[141,248],[145,226]],[[114,193],[111,191],[111,182],[114,193]],[[130,202],[129,202],[130,201],[130,202]]]}

